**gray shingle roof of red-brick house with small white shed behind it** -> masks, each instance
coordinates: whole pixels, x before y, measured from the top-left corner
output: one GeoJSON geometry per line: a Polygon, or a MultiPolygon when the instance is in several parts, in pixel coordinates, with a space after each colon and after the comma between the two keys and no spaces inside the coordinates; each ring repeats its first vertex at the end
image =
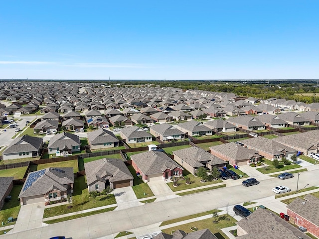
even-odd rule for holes
{"type": "Polygon", "coordinates": [[[131,159],[145,175],[153,175],[164,172],[166,169],[181,168],[164,152],[148,151],[131,156],[131,159]]]}

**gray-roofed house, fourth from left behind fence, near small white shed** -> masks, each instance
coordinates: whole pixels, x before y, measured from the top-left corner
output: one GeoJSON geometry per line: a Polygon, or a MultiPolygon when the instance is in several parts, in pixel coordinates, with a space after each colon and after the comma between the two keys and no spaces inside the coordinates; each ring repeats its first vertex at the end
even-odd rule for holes
{"type": "Polygon", "coordinates": [[[126,143],[141,143],[153,141],[153,137],[151,134],[136,125],[132,127],[122,128],[121,138],[126,143]]]}

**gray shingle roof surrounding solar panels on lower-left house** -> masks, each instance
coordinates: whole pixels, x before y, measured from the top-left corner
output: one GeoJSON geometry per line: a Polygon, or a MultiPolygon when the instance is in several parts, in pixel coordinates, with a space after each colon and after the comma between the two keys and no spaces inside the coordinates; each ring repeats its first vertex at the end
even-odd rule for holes
{"type": "Polygon", "coordinates": [[[37,178],[30,187],[23,191],[24,186],[28,183],[29,177],[32,173],[29,173],[26,177],[19,198],[44,195],[52,189],[66,191],[66,184],[74,182],[73,168],[46,168],[45,173],[41,177],[37,178]],[[55,169],[63,170],[63,172],[59,172],[55,169]]]}

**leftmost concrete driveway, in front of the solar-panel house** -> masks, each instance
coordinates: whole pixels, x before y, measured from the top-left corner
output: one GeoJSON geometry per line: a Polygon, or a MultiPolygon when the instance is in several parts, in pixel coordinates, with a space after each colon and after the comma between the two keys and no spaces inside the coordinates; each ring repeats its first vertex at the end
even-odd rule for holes
{"type": "Polygon", "coordinates": [[[42,227],[44,202],[21,206],[18,218],[12,232],[42,227]]]}

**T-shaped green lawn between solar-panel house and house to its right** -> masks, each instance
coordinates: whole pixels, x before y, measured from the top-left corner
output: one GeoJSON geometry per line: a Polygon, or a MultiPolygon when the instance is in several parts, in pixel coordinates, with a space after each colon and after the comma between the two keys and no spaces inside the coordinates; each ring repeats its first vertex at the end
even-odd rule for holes
{"type": "Polygon", "coordinates": [[[97,196],[96,198],[89,198],[89,191],[85,177],[78,177],[74,179],[72,208],[67,208],[69,205],[61,205],[53,208],[46,208],[44,210],[43,218],[49,218],[57,215],[63,215],[67,213],[73,213],[90,208],[97,208],[112,204],[116,204],[116,200],[113,194],[97,196]]]}

